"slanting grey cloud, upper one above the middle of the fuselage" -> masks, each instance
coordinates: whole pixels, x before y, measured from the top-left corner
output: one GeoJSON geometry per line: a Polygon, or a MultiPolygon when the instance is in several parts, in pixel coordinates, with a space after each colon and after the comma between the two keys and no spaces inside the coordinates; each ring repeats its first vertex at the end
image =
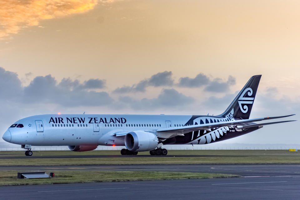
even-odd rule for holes
{"type": "Polygon", "coordinates": [[[116,88],[114,93],[129,93],[129,92],[145,92],[149,86],[172,86],[173,85],[172,72],[160,72],[154,74],[148,79],[142,80],[132,86],[123,86],[122,88],[116,88]]]}

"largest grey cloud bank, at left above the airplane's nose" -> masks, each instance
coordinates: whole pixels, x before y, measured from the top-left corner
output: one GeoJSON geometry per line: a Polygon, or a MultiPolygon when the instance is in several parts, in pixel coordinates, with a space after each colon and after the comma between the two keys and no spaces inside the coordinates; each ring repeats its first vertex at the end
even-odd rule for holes
{"type": "Polygon", "coordinates": [[[0,68],[0,101],[14,103],[52,103],[65,107],[108,105],[113,99],[106,92],[90,91],[103,88],[104,80],[89,79],[84,83],[63,78],[57,83],[51,75],[37,76],[28,86],[22,87],[16,73],[0,68]]]}

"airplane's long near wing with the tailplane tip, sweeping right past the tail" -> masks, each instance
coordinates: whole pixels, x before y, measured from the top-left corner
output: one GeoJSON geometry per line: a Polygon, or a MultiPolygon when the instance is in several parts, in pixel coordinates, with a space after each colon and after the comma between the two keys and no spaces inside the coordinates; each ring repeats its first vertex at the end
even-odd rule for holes
{"type": "Polygon", "coordinates": [[[242,120],[229,121],[229,122],[198,124],[198,125],[183,126],[183,127],[159,128],[156,131],[157,132],[167,132],[167,133],[174,133],[174,132],[178,133],[179,132],[179,133],[184,134],[184,133],[189,133],[189,132],[198,131],[198,130],[211,131],[212,128],[221,128],[224,126],[228,126],[228,127],[232,127],[232,128],[250,128],[250,127],[255,127],[255,126],[260,126],[260,125],[291,122],[291,121],[282,121],[282,122],[265,123],[265,124],[249,124],[250,122],[258,122],[258,121],[269,120],[269,119],[285,118],[285,117],[290,117],[290,116],[292,116],[292,115],[279,116],[279,117],[256,118],[256,119],[242,119],[242,120]]]}

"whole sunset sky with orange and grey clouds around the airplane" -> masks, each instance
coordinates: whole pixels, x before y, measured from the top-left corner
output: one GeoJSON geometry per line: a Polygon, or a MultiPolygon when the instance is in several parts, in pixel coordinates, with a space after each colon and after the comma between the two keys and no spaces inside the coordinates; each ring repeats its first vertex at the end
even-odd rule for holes
{"type": "MultiPolygon", "coordinates": [[[[299,8],[276,0],[1,0],[0,135],[44,113],[217,115],[257,74],[250,117],[299,120],[299,8]]],[[[300,143],[299,125],[225,143],[300,143]]]]}

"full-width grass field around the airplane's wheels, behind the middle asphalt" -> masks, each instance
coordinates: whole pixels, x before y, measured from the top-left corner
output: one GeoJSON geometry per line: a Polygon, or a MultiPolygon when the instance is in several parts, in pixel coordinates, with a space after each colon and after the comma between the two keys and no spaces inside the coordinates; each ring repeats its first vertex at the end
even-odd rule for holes
{"type": "Polygon", "coordinates": [[[288,150],[170,150],[167,157],[140,157],[149,152],[139,152],[136,156],[114,158],[76,158],[82,155],[120,155],[119,151],[35,151],[26,159],[3,159],[25,157],[24,152],[0,152],[0,165],[107,165],[107,164],[299,164],[300,152],[288,150]],[[194,155],[182,157],[182,155],[194,155]],[[58,158],[47,158],[58,156],[58,158]],[[59,158],[72,156],[72,158],[59,158]]]}

